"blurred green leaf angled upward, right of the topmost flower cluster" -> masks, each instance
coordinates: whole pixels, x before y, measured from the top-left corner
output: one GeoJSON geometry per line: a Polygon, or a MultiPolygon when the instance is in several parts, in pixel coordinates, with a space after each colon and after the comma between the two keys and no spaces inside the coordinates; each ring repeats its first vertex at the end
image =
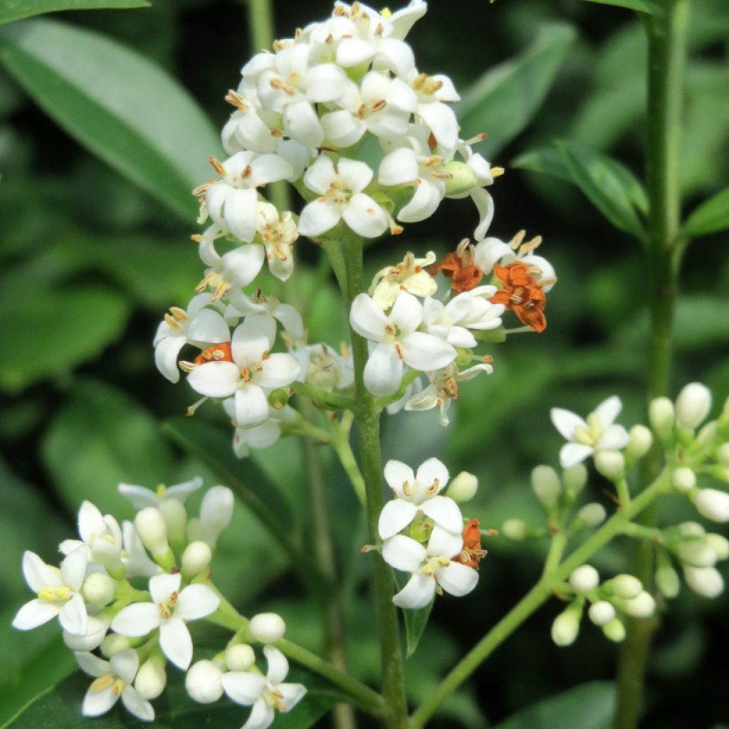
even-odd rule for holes
{"type": "Polygon", "coordinates": [[[488,133],[478,149],[494,157],[537,113],[575,38],[572,26],[545,26],[522,55],[486,71],[457,105],[462,136],[488,133]]]}

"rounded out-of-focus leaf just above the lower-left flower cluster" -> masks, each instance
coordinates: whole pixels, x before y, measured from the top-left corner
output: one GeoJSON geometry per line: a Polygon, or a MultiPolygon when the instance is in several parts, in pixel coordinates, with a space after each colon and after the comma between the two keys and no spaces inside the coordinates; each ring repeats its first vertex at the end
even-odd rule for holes
{"type": "Polygon", "coordinates": [[[112,514],[129,510],[117,493],[119,483],[169,483],[172,461],[155,418],[121,391],[93,380],[74,382],[71,401],[45,434],[43,459],[71,511],[88,499],[112,514]]]}

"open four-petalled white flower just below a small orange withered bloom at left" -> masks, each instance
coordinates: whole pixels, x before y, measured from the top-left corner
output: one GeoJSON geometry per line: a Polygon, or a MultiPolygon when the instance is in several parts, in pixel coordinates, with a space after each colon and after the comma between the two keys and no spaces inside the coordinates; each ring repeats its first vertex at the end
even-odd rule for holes
{"type": "Polygon", "coordinates": [[[290,354],[269,354],[276,337],[268,317],[252,316],[233,332],[233,362],[206,362],[188,375],[192,389],[208,397],[235,395],[235,421],[241,427],[268,420],[268,399],[264,388],[291,384],[300,364],[290,354]]]}

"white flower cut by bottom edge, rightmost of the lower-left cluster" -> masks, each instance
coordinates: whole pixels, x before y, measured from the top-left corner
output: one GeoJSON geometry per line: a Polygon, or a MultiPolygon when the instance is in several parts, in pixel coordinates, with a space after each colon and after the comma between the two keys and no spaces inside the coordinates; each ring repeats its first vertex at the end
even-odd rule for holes
{"type": "Polygon", "coordinates": [[[268,661],[265,676],[248,671],[228,671],[222,676],[228,698],[243,706],[253,705],[251,715],[241,729],[266,729],[273,722],[274,709],[288,712],[306,693],[302,684],[284,683],[289,662],[278,648],[267,645],[263,652],[268,661]]]}

